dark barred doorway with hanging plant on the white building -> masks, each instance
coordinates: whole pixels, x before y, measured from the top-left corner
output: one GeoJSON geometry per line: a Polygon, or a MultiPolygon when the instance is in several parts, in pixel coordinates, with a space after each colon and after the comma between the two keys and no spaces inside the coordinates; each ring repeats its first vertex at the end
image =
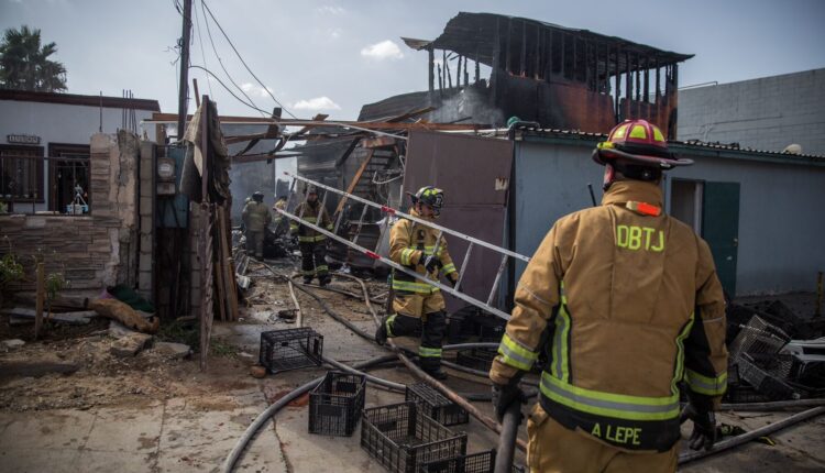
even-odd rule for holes
{"type": "Polygon", "coordinates": [[[64,213],[72,204],[91,206],[89,155],[88,144],[50,143],[48,210],[64,213]]]}

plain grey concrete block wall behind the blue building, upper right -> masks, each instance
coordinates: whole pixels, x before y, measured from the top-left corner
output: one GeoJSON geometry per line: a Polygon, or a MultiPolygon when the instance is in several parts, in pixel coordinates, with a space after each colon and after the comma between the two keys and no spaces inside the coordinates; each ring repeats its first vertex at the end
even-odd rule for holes
{"type": "Polygon", "coordinates": [[[825,69],[680,90],[676,138],[825,155],[825,69]]]}

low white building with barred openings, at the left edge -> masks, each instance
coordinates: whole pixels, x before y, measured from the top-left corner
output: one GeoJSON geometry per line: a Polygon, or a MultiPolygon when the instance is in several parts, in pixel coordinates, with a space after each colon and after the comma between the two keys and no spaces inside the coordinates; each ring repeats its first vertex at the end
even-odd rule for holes
{"type": "Polygon", "coordinates": [[[154,125],[140,123],[160,111],[157,100],[0,90],[0,201],[15,212],[64,213],[79,185],[92,207],[91,135],[129,129],[154,140],[154,125]]]}

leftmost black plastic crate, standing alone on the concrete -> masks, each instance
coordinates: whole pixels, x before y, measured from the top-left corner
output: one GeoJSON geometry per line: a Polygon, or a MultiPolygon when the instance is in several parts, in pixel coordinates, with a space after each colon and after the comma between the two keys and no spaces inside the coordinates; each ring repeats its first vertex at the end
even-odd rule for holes
{"type": "Polygon", "coordinates": [[[320,366],[323,336],[304,327],[261,333],[258,361],[270,373],[320,366]]]}

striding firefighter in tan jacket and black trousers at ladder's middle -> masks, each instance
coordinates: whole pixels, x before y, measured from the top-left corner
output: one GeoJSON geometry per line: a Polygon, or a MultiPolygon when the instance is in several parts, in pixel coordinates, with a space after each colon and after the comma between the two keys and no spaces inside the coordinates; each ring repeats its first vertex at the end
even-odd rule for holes
{"type": "MultiPolygon", "coordinates": [[[[443,191],[432,186],[422,187],[411,195],[410,215],[425,220],[435,220],[443,205],[443,191]]],[[[438,231],[413,222],[399,220],[389,232],[389,257],[418,274],[431,278],[447,276],[455,285],[459,273],[447,252],[442,238],[438,249],[438,231]]],[[[402,272],[393,272],[392,314],[384,318],[375,333],[375,340],[384,344],[388,337],[405,337],[421,332],[418,358],[421,370],[429,375],[446,380],[441,370],[441,345],[447,332],[444,298],[439,288],[402,272]]]]}

